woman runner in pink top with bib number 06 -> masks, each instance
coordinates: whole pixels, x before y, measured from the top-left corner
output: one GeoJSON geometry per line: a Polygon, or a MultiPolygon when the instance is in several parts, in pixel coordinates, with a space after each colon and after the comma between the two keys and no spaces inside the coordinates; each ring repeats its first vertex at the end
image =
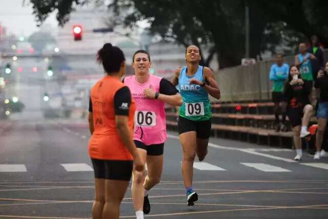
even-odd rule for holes
{"type": "Polygon", "coordinates": [[[135,75],[124,78],[135,100],[134,142],[147,163],[148,175],[133,169],[132,197],[137,219],[150,211],[148,191],[160,182],[163,167],[163,146],[167,138],[164,104],[180,106],[182,99],[165,78],[149,74],[150,55],[138,50],[133,55],[135,75]]]}

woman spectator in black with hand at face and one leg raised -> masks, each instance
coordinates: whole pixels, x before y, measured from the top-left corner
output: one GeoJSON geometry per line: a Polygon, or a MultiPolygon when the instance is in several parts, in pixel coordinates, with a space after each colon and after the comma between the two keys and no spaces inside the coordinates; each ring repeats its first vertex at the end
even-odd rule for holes
{"type": "Polygon", "coordinates": [[[311,90],[312,86],[304,83],[298,67],[291,66],[288,81],[284,86],[284,95],[288,100],[287,115],[293,127],[295,161],[299,161],[302,157],[301,138],[310,134],[308,125],[313,110],[309,99],[311,90]]]}

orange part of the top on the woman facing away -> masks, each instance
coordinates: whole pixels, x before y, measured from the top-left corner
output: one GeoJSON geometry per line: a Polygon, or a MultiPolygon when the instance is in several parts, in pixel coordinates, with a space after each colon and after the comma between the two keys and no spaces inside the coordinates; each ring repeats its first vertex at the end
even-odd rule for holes
{"type": "MultiPolygon", "coordinates": [[[[94,132],[89,142],[89,155],[100,160],[133,160],[118,135],[115,122],[114,95],[125,85],[119,78],[105,76],[91,89],[94,132]]],[[[131,97],[128,125],[133,136],[135,103],[131,97]]]]}

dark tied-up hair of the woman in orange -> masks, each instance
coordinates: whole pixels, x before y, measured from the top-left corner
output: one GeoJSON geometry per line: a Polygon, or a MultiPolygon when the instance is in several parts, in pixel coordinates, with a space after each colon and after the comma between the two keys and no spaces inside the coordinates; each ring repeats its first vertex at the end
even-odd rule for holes
{"type": "Polygon", "coordinates": [[[124,61],[125,57],[122,50],[110,43],[104,44],[97,53],[97,62],[103,64],[107,73],[118,72],[124,61]]]}

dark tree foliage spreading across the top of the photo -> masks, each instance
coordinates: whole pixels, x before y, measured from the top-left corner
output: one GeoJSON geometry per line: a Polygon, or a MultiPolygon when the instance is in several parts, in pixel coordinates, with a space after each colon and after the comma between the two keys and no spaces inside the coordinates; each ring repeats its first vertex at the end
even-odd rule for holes
{"type": "MultiPolygon", "coordinates": [[[[39,22],[58,9],[57,19],[63,25],[75,5],[91,0],[31,2],[39,22]]],[[[137,21],[147,19],[151,33],[185,46],[206,46],[209,56],[202,57],[203,65],[209,65],[216,53],[223,68],[240,64],[244,57],[246,5],[250,9],[251,57],[282,41],[297,44],[314,34],[328,45],[326,0],[114,0],[110,7],[116,24],[134,27],[137,21]]]]}

